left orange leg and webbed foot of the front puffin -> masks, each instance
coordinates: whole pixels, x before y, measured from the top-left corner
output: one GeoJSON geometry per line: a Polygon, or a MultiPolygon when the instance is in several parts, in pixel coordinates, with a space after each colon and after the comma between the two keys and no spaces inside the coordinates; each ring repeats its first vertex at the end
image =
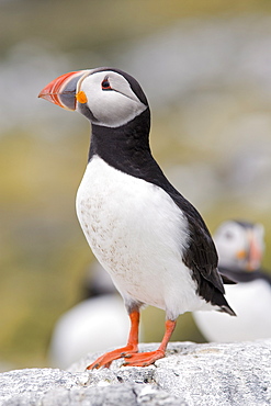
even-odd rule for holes
{"type": "Polygon", "coordinates": [[[99,357],[94,362],[92,362],[87,368],[87,370],[94,370],[101,366],[109,368],[112,361],[125,357],[126,354],[131,354],[133,352],[138,351],[139,312],[137,311],[132,312],[129,314],[129,319],[131,319],[131,330],[127,346],[104,353],[103,356],[99,357]]]}

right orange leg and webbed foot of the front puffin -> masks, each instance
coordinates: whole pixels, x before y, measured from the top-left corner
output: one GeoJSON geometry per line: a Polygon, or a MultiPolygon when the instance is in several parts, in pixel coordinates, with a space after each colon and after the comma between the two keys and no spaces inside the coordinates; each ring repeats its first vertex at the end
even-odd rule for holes
{"type": "Polygon", "coordinates": [[[166,322],[166,332],[160,343],[160,347],[156,351],[151,352],[140,352],[133,354],[125,354],[124,358],[127,360],[125,366],[147,366],[155,361],[163,358],[166,356],[166,349],[172,332],[174,331],[177,322],[167,320],[166,322]]]}

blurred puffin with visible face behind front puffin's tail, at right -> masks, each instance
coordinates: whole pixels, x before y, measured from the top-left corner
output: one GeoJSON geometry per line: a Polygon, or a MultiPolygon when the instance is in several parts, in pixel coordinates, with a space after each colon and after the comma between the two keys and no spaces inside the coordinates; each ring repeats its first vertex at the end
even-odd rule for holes
{"type": "Polygon", "coordinates": [[[229,219],[214,234],[218,270],[237,282],[226,285],[226,298],[238,317],[194,312],[194,320],[208,341],[230,342],[271,337],[271,274],[261,268],[264,228],[259,223],[229,219]]]}

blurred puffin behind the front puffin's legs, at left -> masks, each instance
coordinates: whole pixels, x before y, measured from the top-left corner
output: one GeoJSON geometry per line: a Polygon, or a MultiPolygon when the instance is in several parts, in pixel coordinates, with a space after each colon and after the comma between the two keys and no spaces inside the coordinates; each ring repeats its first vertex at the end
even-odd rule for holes
{"type": "Polygon", "coordinates": [[[54,326],[47,357],[56,368],[66,369],[90,351],[102,352],[126,343],[129,324],[123,301],[99,262],[88,268],[81,293],[81,301],[60,315],[54,326]]]}

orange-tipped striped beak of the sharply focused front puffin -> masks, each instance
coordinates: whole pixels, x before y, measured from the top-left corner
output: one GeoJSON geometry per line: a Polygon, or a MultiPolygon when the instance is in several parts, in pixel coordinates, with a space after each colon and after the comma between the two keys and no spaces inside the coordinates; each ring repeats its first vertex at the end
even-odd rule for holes
{"type": "Polygon", "coordinates": [[[79,79],[88,76],[90,70],[79,70],[59,76],[52,80],[39,92],[38,98],[45,99],[60,108],[75,111],[76,110],[76,91],[79,79]]]}

